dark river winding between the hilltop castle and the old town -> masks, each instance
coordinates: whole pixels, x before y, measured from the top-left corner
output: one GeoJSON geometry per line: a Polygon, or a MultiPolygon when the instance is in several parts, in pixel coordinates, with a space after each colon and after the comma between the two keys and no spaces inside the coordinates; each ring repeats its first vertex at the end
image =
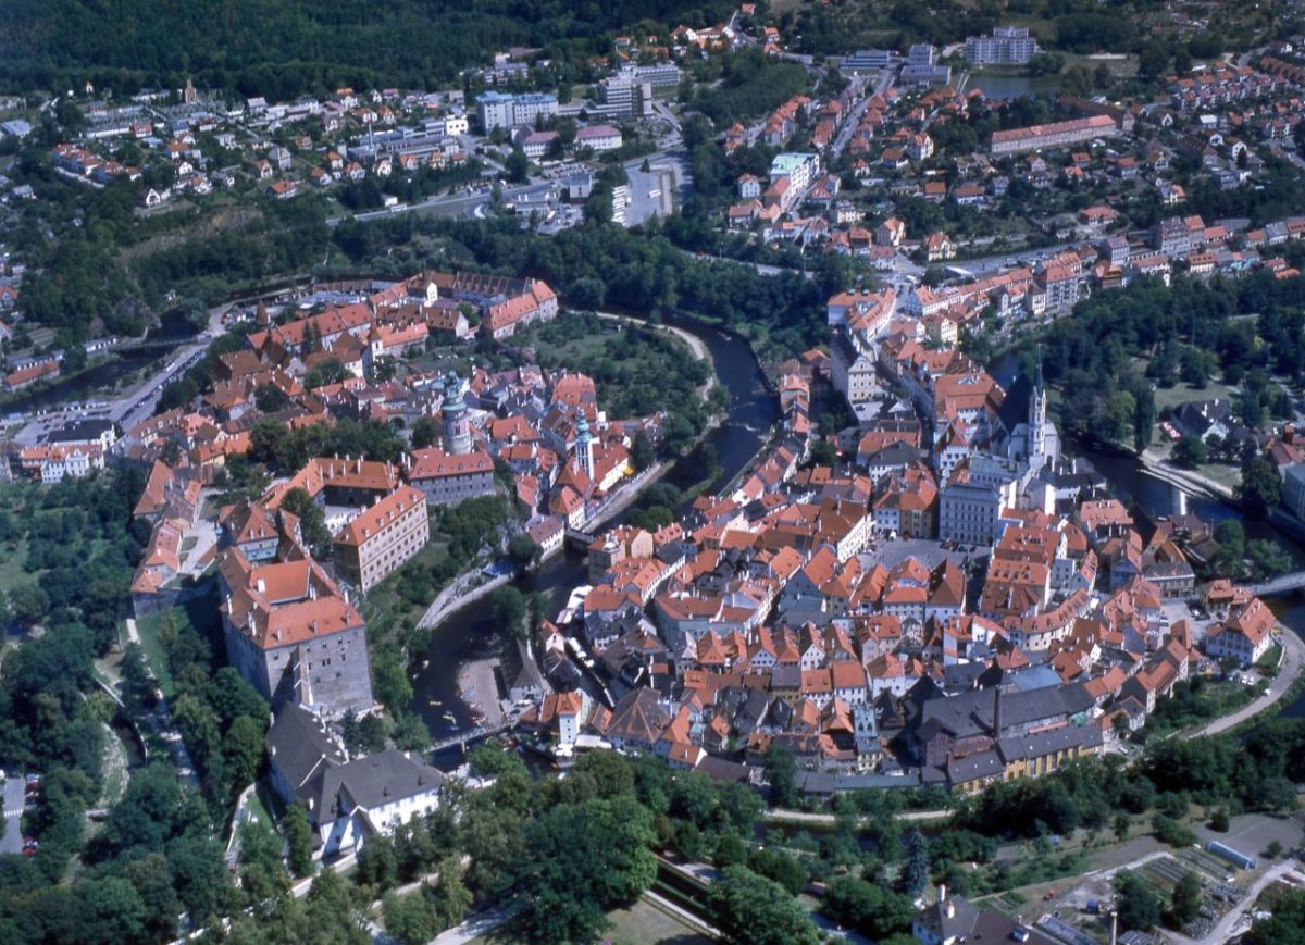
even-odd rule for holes
{"type": "MultiPolygon", "coordinates": [[[[743,338],[686,320],[667,318],[666,324],[706,343],[716,379],[731,394],[728,416],[706,437],[720,462],[713,488],[720,488],[746,467],[765,444],[779,415],[775,398],[743,338]]],[[[688,488],[701,478],[692,459],[681,459],[667,473],[666,482],[688,488]]],[[[620,521],[619,516],[616,522],[620,521]]],[[[572,589],[582,583],[587,583],[585,556],[568,550],[545,563],[538,574],[517,578],[513,586],[523,594],[540,591],[548,602],[545,612],[551,615],[566,603],[572,589]]],[[[471,727],[471,710],[458,696],[458,667],[466,660],[492,655],[497,640],[488,598],[467,604],[431,630],[427,667],[412,681],[412,707],[436,740],[471,727]]]]}

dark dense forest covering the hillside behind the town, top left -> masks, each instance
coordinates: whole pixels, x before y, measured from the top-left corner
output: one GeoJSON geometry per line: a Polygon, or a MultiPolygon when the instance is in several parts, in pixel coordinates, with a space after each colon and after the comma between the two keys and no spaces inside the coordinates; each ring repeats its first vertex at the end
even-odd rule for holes
{"type": "Polygon", "coordinates": [[[0,5],[0,85],[133,91],[197,85],[284,101],[339,86],[424,87],[509,46],[607,52],[625,26],[728,20],[723,0],[94,0],[0,5]]]}

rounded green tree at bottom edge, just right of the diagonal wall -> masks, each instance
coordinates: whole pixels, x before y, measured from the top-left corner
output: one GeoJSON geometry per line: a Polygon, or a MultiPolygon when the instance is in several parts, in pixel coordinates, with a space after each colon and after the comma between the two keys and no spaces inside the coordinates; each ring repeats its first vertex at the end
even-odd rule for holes
{"type": "Polygon", "coordinates": [[[774,880],[746,867],[726,867],[707,888],[707,906],[726,941],[749,945],[816,945],[820,932],[806,911],[774,880]]]}

